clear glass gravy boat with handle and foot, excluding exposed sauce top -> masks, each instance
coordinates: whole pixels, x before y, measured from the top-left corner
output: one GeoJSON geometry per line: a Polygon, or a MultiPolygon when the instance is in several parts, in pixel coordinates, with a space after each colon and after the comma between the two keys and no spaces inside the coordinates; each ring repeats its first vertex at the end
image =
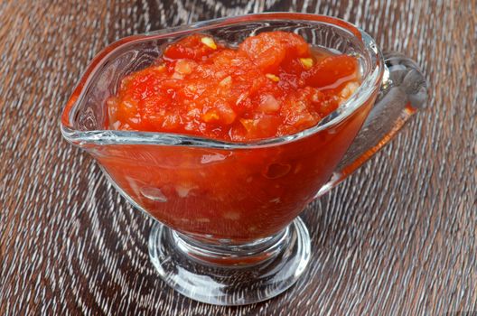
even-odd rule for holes
{"type": "Polygon", "coordinates": [[[239,305],[295,283],[310,259],[310,237],[297,216],[388,143],[425,101],[426,79],[416,63],[397,53],[383,58],[351,23],[315,14],[249,14],[111,44],[80,79],[61,132],[98,161],[126,200],[156,219],[149,254],[164,282],[197,301],[239,305]],[[318,125],[239,144],[107,129],[107,98],[164,45],[197,32],[239,43],[273,30],[360,60],[360,88],[318,125]]]}

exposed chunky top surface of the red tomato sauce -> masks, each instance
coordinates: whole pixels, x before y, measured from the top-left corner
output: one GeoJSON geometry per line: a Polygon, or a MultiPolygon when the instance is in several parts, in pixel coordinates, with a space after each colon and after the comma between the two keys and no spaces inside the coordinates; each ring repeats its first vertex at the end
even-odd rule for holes
{"type": "Polygon", "coordinates": [[[108,98],[109,128],[244,142],[316,125],[360,85],[358,60],[269,32],[228,47],[206,34],[167,46],[108,98]]]}

